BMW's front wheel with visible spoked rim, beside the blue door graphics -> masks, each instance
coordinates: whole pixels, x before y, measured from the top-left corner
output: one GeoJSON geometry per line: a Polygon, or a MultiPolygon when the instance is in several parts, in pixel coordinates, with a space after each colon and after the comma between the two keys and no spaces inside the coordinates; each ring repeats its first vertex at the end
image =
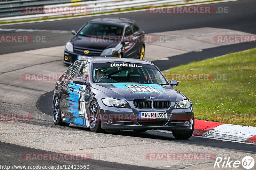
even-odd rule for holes
{"type": "Polygon", "coordinates": [[[89,113],[89,127],[92,132],[103,132],[101,129],[100,122],[100,107],[97,102],[93,101],[90,105],[90,113],[89,113]]]}

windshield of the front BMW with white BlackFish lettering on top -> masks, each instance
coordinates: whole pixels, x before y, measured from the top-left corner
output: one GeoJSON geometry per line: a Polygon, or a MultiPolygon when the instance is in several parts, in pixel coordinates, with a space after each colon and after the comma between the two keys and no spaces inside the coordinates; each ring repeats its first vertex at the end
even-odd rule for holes
{"type": "Polygon", "coordinates": [[[96,83],[168,84],[154,65],[127,62],[93,64],[92,80],[96,83]]]}

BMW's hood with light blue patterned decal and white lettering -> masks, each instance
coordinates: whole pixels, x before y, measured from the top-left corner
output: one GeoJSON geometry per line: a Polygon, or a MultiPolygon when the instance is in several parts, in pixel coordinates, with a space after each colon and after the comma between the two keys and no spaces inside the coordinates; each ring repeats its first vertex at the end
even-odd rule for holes
{"type": "Polygon", "coordinates": [[[94,88],[120,100],[181,101],[185,96],[170,85],[140,83],[94,83],[94,88]]]}

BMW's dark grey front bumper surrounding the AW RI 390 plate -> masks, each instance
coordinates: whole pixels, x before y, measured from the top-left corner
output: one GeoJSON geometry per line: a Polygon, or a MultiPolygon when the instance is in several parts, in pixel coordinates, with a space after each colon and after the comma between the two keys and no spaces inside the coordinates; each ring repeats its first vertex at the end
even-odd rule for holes
{"type": "Polygon", "coordinates": [[[191,131],[193,124],[194,113],[192,108],[188,109],[174,109],[172,102],[169,109],[164,110],[146,110],[135,108],[129,101],[131,108],[115,108],[109,107],[102,103],[101,99],[97,100],[100,106],[100,120],[101,128],[105,130],[168,130],[168,131],[191,131]],[[160,120],[141,120],[138,118],[139,111],[149,112],[167,112],[167,119],[160,120]],[[108,123],[108,120],[112,123],[108,123]],[[188,120],[189,125],[184,125],[188,120]]]}

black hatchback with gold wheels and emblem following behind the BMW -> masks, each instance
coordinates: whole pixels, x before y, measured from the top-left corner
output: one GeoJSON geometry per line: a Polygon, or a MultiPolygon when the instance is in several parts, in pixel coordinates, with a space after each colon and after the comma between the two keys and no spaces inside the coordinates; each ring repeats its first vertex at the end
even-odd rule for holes
{"type": "Polygon", "coordinates": [[[83,25],[68,41],[64,63],[91,57],[144,59],[144,31],[134,20],[126,18],[97,18],[83,25]]]}

